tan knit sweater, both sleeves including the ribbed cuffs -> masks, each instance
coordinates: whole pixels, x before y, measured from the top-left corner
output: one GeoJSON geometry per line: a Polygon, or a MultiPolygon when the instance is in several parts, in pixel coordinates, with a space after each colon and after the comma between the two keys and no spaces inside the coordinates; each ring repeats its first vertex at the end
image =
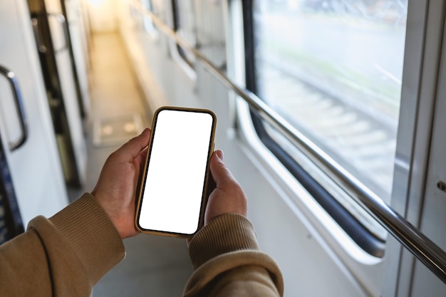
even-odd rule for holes
{"type": "MultiPolygon", "coordinates": [[[[184,296],[282,296],[278,266],[259,251],[254,228],[224,214],[190,242],[194,273],[184,296]]],[[[0,296],[90,296],[125,257],[123,241],[91,194],[0,246],[0,296]]],[[[150,292],[147,292],[150,296],[150,292]]]]}

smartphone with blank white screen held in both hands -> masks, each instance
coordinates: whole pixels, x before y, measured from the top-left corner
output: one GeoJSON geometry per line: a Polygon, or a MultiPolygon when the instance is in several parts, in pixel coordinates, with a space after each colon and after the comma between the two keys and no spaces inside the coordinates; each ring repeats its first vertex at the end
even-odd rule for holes
{"type": "Polygon", "coordinates": [[[140,184],[136,226],[143,233],[190,237],[202,225],[217,118],[210,110],[155,112],[140,184]]]}

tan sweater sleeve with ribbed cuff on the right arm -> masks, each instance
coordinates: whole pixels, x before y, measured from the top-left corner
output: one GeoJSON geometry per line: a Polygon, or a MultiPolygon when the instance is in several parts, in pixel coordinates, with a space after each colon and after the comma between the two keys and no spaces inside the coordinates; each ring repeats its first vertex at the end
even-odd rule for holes
{"type": "Polygon", "coordinates": [[[275,261],[259,251],[254,227],[239,214],[212,220],[190,242],[194,273],[185,288],[192,296],[283,296],[275,261]]]}

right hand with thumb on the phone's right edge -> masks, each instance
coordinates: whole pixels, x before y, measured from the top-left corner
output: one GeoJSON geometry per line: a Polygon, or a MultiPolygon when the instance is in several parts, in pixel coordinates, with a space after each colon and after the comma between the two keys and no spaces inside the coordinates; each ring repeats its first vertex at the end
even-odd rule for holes
{"type": "Polygon", "coordinates": [[[237,213],[246,216],[247,197],[240,184],[224,165],[221,150],[216,150],[212,154],[209,166],[216,188],[209,195],[207,201],[204,226],[222,214],[237,213]]]}

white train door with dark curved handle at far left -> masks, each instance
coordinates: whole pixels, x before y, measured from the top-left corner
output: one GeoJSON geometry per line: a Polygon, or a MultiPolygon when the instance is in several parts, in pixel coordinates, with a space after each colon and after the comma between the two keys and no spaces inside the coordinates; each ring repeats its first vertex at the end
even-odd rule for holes
{"type": "Polygon", "coordinates": [[[0,1],[0,133],[24,225],[68,203],[26,1],[0,1]]]}

